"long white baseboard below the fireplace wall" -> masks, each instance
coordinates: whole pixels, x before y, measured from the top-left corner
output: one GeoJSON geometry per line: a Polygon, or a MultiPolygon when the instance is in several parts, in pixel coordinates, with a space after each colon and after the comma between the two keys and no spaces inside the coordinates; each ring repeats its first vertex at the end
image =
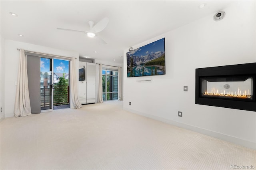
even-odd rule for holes
{"type": "Polygon", "coordinates": [[[206,135],[212,136],[214,138],[218,138],[218,139],[221,139],[221,140],[225,140],[225,141],[228,141],[228,142],[231,142],[231,143],[234,143],[234,144],[239,144],[241,146],[256,150],[256,143],[255,142],[251,142],[251,141],[244,140],[244,139],[241,139],[241,138],[237,138],[237,137],[234,137],[234,136],[230,136],[230,135],[227,135],[227,134],[222,134],[222,133],[219,133],[219,132],[214,132],[214,131],[208,130],[208,129],[195,127],[195,126],[192,126],[192,125],[188,125],[188,124],[184,124],[184,123],[180,123],[180,122],[176,122],[176,121],[171,121],[171,120],[168,120],[168,119],[164,119],[162,117],[157,117],[157,116],[154,116],[154,115],[148,115],[146,113],[141,113],[141,112],[138,112],[138,111],[134,111],[132,109],[124,108],[124,110],[135,113],[137,115],[141,115],[141,116],[144,116],[144,117],[155,119],[157,121],[168,123],[170,125],[174,125],[174,126],[177,126],[177,127],[185,128],[187,130],[192,130],[192,131],[195,131],[195,132],[206,134],[206,135]]]}

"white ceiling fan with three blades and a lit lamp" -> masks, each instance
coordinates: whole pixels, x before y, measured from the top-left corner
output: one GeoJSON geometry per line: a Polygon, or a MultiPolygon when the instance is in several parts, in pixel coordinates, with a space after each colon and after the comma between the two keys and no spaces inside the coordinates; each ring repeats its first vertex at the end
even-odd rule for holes
{"type": "Polygon", "coordinates": [[[106,28],[106,26],[108,25],[108,21],[109,20],[108,20],[107,17],[103,18],[102,20],[100,20],[95,25],[94,25],[93,21],[88,21],[88,24],[90,26],[90,30],[89,31],[71,30],[71,29],[66,29],[66,28],[57,28],[57,29],[58,30],[65,30],[65,31],[73,31],[73,32],[83,32],[88,37],[90,37],[90,38],[97,38],[102,43],[106,44],[106,42],[102,38],[97,36],[96,33],[101,32],[102,30],[104,30],[106,28]]]}

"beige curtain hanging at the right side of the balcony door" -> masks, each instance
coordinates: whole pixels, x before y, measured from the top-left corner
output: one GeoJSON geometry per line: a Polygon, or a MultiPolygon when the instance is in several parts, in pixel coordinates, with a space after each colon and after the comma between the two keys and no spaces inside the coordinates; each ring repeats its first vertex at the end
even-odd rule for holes
{"type": "Polygon", "coordinates": [[[78,98],[78,72],[76,68],[76,59],[72,57],[71,65],[70,65],[70,91],[71,91],[71,102],[75,109],[79,109],[82,107],[82,104],[78,98]]]}

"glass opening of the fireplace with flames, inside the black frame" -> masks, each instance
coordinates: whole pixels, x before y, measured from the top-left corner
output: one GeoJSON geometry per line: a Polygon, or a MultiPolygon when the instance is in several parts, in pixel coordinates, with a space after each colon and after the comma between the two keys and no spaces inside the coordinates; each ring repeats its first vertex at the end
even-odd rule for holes
{"type": "Polygon", "coordinates": [[[201,77],[201,97],[252,101],[253,76],[201,77]]]}

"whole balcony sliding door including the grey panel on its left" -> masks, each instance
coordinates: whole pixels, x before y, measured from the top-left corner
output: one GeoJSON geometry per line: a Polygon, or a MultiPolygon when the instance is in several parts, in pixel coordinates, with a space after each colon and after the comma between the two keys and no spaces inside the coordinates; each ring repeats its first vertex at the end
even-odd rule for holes
{"type": "Polygon", "coordinates": [[[31,113],[70,108],[70,60],[26,52],[31,113]]]}

